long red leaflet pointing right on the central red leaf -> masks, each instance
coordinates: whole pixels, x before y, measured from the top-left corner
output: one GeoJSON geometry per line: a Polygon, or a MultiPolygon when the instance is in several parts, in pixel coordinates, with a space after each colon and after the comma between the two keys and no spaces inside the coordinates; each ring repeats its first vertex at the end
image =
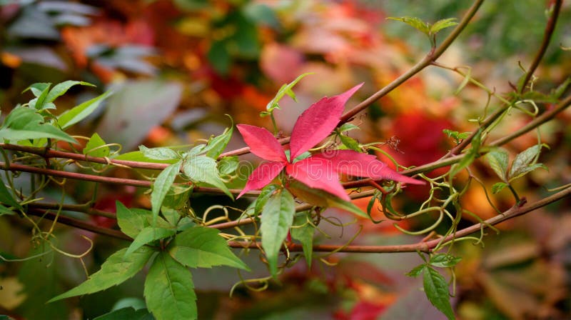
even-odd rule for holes
{"type": "Polygon", "coordinates": [[[379,161],[373,155],[362,154],[353,150],[325,151],[321,154],[315,154],[312,158],[330,161],[335,171],[350,176],[362,176],[375,180],[394,180],[408,184],[424,184],[424,181],[404,176],[390,169],[387,164],[379,161]]]}

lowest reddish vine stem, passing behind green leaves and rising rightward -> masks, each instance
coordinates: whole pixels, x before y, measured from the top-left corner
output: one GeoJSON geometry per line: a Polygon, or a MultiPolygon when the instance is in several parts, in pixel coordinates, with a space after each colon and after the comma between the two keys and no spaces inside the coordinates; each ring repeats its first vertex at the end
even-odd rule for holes
{"type": "MultiPolygon", "coordinates": [[[[319,252],[353,252],[353,253],[370,253],[370,254],[382,254],[382,253],[397,253],[397,252],[430,252],[434,249],[438,244],[445,243],[448,241],[452,241],[453,239],[457,239],[459,237],[468,236],[469,234],[473,234],[474,232],[480,231],[482,229],[487,229],[490,226],[494,226],[496,224],[500,224],[503,221],[513,219],[517,216],[522,216],[523,214],[527,214],[531,211],[539,209],[543,206],[547,206],[555,201],[559,201],[564,199],[567,196],[571,196],[571,186],[563,189],[562,191],[557,192],[556,194],[552,194],[551,196],[547,196],[544,199],[539,201],[535,201],[531,204],[526,204],[524,206],[515,205],[512,208],[508,209],[507,211],[502,212],[502,214],[498,214],[490,219],[482,221],[478,224],[473,224],[472,226],[468,226],[464,229],[460,229],[455,232],[455,234],[450,234],[446,236],[444,239],[434,239],[431,241],[422,241],[416,244],[399,244],[394,246],[368,246],[368,245],[353,245],[353,246],[345,246],[345,245],[316,245],[313,246],[313,251],[319,252]]],[[[103,234],[106,236],[112,236],[113,238],[123,239],[127,241],[132,241],[129,236],[123,234],[121,231],[102,228],[100,226],[94,226],[91,224],[87,224],[84,221],[79,221],[77,219],[69,218],[67,216],[58,216],[56,217],[55,214],[51,214],[50,212],[46,212],[39,209],[32,209],[29,211],[29,214],[34,216],[41,216],[43,219],[54,221],[57,219],[57,222],[61,224],[66,224],[69,226],[74,226],[78,229],[84,229],[86,231],[91,231],[96,234],[103,234]]],[[[213,227],[214,225],[210,226],[213,227]]],[[[259,249],[260,246],[257,242],[242,242],[242,241],[228,241],[228,246],[232,248],[238,249],[259,249]]],[[[303,247],[300,244],[288,244],[289,251],[303,251],[303,247]]]]}

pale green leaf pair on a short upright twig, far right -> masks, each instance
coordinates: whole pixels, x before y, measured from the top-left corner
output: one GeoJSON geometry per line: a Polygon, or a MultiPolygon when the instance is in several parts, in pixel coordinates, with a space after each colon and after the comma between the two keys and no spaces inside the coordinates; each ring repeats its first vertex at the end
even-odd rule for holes
{"type": "Polygon", "coordinates": [[[486,154],[487,162],[495,174],[502,180],[492,186],[492,193],[497,194],[506,186],[510,186],[512,181],[520,179],[535,169],[547,170],[544,164],[537,163],[541,149],[544,146],[547,147],[545,144],[536,144],[520,152],[513,159],[511,166],[505,149],[495,148],[488,152],[486,154]]]}

